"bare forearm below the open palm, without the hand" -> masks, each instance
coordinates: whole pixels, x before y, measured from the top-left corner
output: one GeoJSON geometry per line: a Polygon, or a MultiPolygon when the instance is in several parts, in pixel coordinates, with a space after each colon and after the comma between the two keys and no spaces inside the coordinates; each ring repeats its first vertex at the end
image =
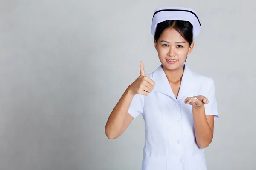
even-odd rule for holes
{"type": "Polygon", "coordinates": [[[213,130],[207,122],[204,105],[200,107],[193,107],[192,111],[196,142],[199,147],[205,148],[212,142],[213,130]]]}

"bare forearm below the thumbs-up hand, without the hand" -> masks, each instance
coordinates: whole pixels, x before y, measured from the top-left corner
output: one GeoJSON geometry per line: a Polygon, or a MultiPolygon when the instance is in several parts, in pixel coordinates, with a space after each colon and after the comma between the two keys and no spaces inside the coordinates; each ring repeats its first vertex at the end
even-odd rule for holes
{"type": "Polygon", "coordinates": [[[127,88],[111,112],[105,127],[105,133],[108,138],[114,139],[120,135],[133,97],[134,95],[127,88]]]}

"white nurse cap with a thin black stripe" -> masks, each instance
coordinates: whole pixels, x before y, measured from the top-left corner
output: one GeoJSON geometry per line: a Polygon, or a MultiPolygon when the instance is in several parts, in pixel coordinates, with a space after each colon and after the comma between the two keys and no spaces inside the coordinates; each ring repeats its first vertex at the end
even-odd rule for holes
{"type": "Polygon", "coordinates": [[[201,30],[201,23],[196,12],[190,8],[157,8],[154,11],[151,34],[154,36],[157,24],[166,20],[189,21],[193,26],[193,37],[196,37],[201,30]]]}

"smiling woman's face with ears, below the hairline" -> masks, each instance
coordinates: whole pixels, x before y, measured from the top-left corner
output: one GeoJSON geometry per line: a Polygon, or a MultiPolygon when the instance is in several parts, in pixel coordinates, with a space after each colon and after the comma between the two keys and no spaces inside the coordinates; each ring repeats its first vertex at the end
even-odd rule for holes
{"type": "Polygon", "coordinates": [[[168,70],[176,70],[182,67],[193,47],[194,43],[189,46],[189,42],[173,28],[163,31],[158,41],[155,42],[160,62],[168,70]]]}

